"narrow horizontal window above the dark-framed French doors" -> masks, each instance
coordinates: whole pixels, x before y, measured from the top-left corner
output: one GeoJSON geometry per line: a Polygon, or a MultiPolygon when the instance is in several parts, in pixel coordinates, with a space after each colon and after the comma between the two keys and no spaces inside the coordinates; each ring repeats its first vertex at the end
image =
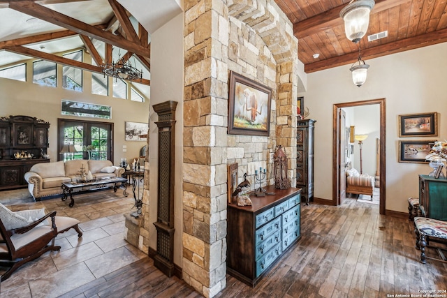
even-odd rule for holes
{"type": "Polygon", "coordinates": [[[78,101],[62,100],[63,115],[92,118],[112,118],[112,107],[108,105],[94,105],[93,103],[79,103],[78,101]]]}

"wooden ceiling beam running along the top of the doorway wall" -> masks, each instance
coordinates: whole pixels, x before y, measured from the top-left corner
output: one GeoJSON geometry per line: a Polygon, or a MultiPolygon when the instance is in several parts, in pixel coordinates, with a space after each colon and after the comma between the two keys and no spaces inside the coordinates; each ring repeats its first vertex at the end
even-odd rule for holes
{"type": "MultiPolygon", "coordinates": [[[[367,60],[445,42],[447,42],[447,29],[442,29],[426,33],[420,36],[414,36],[411,38],[397,40],[393,43],[377,45],[376,47],[368,47],[367,49],[362,50],[361,54],[362,59],[367,60]]],[[[311,64],[306,64],[305,73],[314,73],[318,70],[343,66],[346,64],[353,64],[354,62],[357,61],[357,59],[358,59],[358,52],[352,52],[346,55],[317,61],[311,64]]]]}

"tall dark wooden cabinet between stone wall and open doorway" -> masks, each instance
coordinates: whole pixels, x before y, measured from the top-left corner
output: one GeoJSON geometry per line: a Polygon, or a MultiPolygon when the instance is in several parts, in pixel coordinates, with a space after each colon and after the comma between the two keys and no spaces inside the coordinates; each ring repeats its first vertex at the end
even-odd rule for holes
{"type": "Polygon", "coordinates": [[[298,120],[296,132],[296,187],[306,204],[314,200],[314,128],[316,120],[298,120]]]}

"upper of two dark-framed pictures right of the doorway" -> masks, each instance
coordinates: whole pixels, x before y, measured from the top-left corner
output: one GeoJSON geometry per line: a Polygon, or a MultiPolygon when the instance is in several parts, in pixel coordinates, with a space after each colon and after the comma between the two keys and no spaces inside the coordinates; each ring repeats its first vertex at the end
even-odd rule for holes
{"type": "Polygon", "coordinates": [[[399,115],[400,137],[436,137],[438,135],[437,112],[399,115]]]}

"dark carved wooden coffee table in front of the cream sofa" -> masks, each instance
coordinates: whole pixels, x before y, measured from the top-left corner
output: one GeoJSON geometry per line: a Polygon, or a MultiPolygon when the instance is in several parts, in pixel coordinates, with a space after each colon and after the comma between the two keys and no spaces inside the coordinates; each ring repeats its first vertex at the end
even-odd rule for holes
{"type": "Polygon", "coordinates": [[[62,200],[65,201],[70,195],[70,204],[68,206],[73,207],[75,204],[75,200],[73,199],[73,191],[75,193],[85,192],[85,191],[100,191],[103,189],[107,189],[113,187],[113,191],[117,192],[119,186],[124,186],[123,194],[125,197],[129,195],[126,192],[127,188],[127,179],[122,177],[114,177],[109,179],[98,179],[96,181],[88,181],[88,182],[62,182],[62,190],[64,191],[64,196],[62,200]]]}

